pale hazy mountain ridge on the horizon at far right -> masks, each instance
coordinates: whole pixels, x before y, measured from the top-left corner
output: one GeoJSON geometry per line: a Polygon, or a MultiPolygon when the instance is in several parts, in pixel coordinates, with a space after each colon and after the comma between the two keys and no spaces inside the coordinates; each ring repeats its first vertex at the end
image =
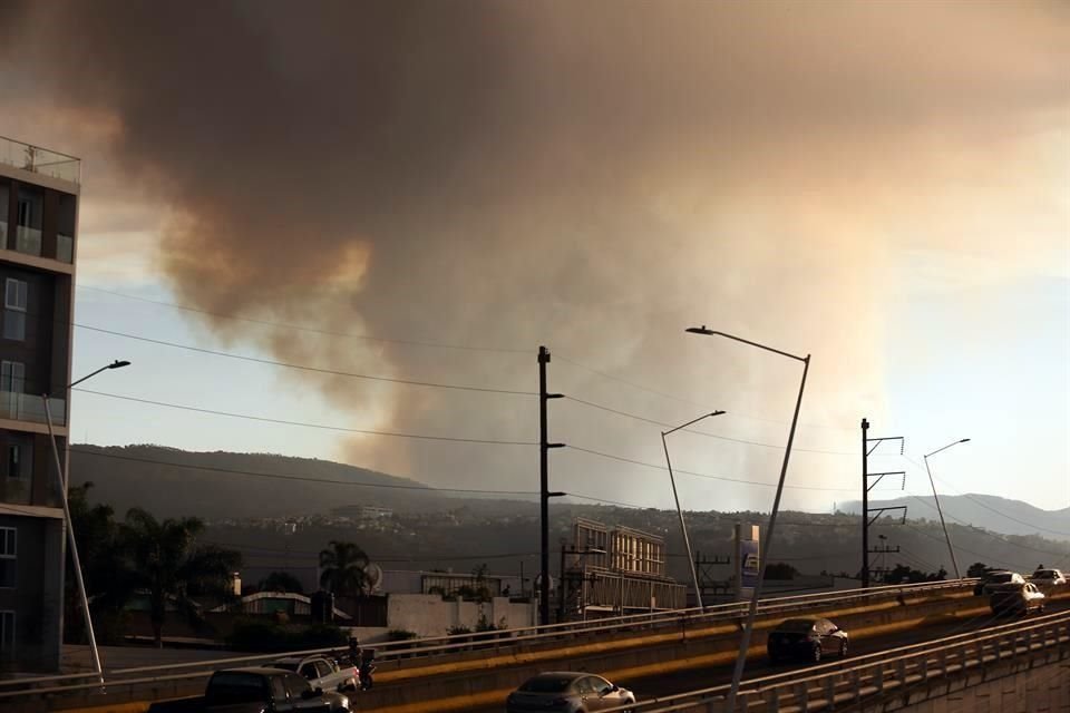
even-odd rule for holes
{"type": "MultiPolygon", "coordinates": [[[[907,507],[909,519],[940,518],[932,497],[905,497],[869,502],[870,508],[897,506],[907,507]]],[[[981,494],[941,496],[940,507],[949,525],[966,524],[1004,535],[1041,535],[1049,539],[1070,541],[1070,507],[1043,510],[1021,500],[981,494]]],[[[858,515],[862,512],[862,502],[842,502],[839,510],[858,515]]]]}

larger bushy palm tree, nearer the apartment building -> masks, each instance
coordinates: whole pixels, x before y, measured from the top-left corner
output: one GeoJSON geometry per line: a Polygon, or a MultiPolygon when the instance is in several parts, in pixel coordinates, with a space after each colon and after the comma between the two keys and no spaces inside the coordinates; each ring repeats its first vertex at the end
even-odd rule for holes
{"type": "Polygon", "coordinates": [[[153,639],[162,646],[167,603],[197,621],[189,594],[225,592],[241,555],[216,547],[197,547],[204,522],[195,517],[158,521],[142,508],[132,508],[120,526],[119,539],[139,588],[149,594],[153,639]]]}

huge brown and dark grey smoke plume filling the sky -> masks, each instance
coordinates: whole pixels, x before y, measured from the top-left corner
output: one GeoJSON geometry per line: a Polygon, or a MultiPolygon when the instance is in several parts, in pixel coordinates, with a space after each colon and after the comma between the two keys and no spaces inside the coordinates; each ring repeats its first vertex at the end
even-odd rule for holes
{"type": "MultiPolygon", "coordinates": [[[[949,178],[983,183],[1003,159],[1018,170],[1014,150],[992,143],[1058,128],[1067,109],[1070,33],[1056,3],[2,7],[3,77],[115,118],[115,174],[169,211],[162,264],[181,301],[532,355],[222,321],[220,339],[524,389],[547,343],[703,403],[786,413],[790,370],[680,334],[716,321],[813,350],[810,413],[844,426],[882,407],[873,265],[902,242],[903,216],[938,206],[949,178]]],[[[577,393],[655,418],[698,408],[555,370],[577,393]]],[[[534,436],[534,400],[314,383],[363,427],[534,436]]],[[[656,445],[655,429],[613,431],[626,424],[571,408],[555,422],[567,440],[656,445]]],[[[775,451],[701,446],[709,470],[770,479],[775,451]]],[[[431,482],[526,486],[535,463],[507,448],[347,448],[431,482]]],[[[572,467],[615,478],[595,461],[572,467]]],[[[646,492],[641,478],[614,492],[630,490],[646,492]]]]}

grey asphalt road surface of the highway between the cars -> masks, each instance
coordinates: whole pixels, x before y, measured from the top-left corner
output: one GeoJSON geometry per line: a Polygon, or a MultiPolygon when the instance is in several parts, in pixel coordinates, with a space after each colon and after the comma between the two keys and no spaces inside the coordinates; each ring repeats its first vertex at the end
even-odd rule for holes
{"type": "MultiPolygon", "coordinates": [[[[1045,614],[1053,614],[1056,612],[1064,612],[1070,609],[1070,602],[1058,602],[1050,603],[1045,608],[1045,614]]],[[[1027,619],[1022,621],[1033,621],[1035,615],[1031,615],[1027,619]]],[[[937,638],[944,638],[946,636],[954,636],[956,634],[964,634],[967,632],[979,632],[983,628],[1009,624],[1014,622],[1014,617],[1000,616],[994,617],[989,614],[985,616],[977,616],[969,619],[961,619],[954,622],[947,622],[943,624],[935,624],[926,626],[924,628],[911,629],[907,632],[897,632],[895,634],[888,634],[885,636],[875,636],[872,638],[852,638],[850,639],[850,654],[847,657],[849,663],[853,656],[859,656],[864,654],[875,654],[882,651],[888,651],[896,648],[898,646],[907,646],[909,644],[920,644],[926,641],[933,641],[937,638]]],[[[848,635],[850,632],[848,631],[848,635]]],[[[823,661],[823,664],[838,662],[835,657],[827,657],[823,661]]],[[[568,670],[567,662],[563,662],[561,666],[547,665],[547,671],[553,670],[568,670]]],[[[745,671],[745,680],[749,678],[760,678],[762,676],[774,675],[778,673],[785,673],[791,670],[805,671],[807,664],[805,662],[795,662],[795,663],[780,663],[771,664],[768,658],[765,656],[758,658],[751,658],[747,662],[747,668],[745,671]]],[[[592,673],[601,673],[599,671],[592,671],[592,673]]],[[[614,683],[617,683],[625,688],[633,691],[639,701],[643,701],[652,697],[662,697],[667,695],[672,695],[675,693],[684,693],[688,691],[696,691],[699,688],[707,688],[711,686],[717,686],[721,684],[731,683],[732,681],[732,666],[717,666],[711,668],[697,668],[692,671],[681,671],[673,674],[660,674],[656,676],[643,677],[643,678],[633,678],[633,680],[617,680],[614,683]]],[[[502,704],[485,706],[485,707],[473,707],[470,709],[471,713],[502,713],[505,710],[505,702],[502,704]]]]}

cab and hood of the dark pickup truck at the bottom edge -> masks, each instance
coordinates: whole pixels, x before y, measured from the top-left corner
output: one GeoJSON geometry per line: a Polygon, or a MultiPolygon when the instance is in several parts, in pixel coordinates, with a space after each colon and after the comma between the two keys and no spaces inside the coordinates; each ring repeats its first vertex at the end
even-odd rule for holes
{"type": "Polygon", "coordinates": [[[313,688],[300,675],[281,668],[216,671],[204,690],[206,713],[342,713],[344,695],[313,688]]]}

